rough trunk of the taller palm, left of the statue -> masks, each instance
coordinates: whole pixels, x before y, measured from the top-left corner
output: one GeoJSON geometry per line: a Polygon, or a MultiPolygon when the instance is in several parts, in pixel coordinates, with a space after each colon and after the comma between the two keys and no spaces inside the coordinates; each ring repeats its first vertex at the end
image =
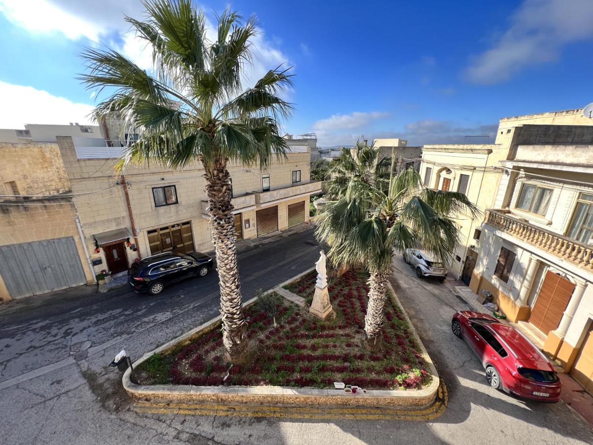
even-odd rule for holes
{"type": "Polygon", "coordinates": [[[231,213],[233,206],[227,163],[228,159],[217,159],[212,167],[204,166],[204,177],[221,291],[222,343],[226,349],[225,358],[231,363],[238,363],[247,351],[247,322],[243,315],[237,268],[237,235],[231,213]]]}

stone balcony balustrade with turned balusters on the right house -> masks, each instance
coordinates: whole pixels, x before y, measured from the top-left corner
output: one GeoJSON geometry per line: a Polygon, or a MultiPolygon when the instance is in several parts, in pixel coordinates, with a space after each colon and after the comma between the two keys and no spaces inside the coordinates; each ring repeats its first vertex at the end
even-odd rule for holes
{"type": "Polygon", "coordinates": [[[593,246],[571,240],[553,231],[513,217],[507,210],[486,211],[486,222],[541,250],[593,271],[593,246]]]}

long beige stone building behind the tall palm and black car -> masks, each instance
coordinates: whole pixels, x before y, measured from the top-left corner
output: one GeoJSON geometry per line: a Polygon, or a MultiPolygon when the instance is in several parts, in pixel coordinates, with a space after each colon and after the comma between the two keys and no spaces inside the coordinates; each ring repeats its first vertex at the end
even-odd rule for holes
{"type": "MultiPolygon", "coordinates": [[[[72,192],[93,192],[92,201],[75,196],[74,203],[95,272],[117,274],[136,259],[171,250],[212,250],[199,164],[183,171],[129,166],[116,176],[113,167],[123,148],[96,143],[100,146],[58,136],[72,192]]],[[[264,171],[240,164],[231,164],[229,171],[238,239],[309,222],[310,195],[321,191],[321,183],[310,181],[308,147],[293,148],[286,160],[275,160],[264,171]]]]}

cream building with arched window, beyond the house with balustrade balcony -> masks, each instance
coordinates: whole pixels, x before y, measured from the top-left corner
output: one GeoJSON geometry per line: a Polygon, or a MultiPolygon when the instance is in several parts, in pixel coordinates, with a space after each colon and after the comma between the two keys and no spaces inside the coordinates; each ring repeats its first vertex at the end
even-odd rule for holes
{"type": "Polygon", "coordinates": [[[482,212],[478,217],[458,215],[461,242],[455,249],[449,272],[470,283],[480,250],[482,221],[492,208],[499,183],[505,177],[500,161],[514,158],[522,144],[588,143],[593,120],[582,109],[503,117],[494,144],[433,144],[422,148],[420,176],[427,187],[466,193],[482,212]]]}

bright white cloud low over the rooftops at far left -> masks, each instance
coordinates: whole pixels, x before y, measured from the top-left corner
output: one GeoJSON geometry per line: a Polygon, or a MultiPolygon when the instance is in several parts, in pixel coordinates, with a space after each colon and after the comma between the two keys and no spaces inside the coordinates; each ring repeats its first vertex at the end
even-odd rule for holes
{"type": "Polygon", "coordinates": [[[25,123],[93,123],[88,115],[93,106],[74,103],[33,87],[0,81],[0,128],[24,128],[25,123]]]}

